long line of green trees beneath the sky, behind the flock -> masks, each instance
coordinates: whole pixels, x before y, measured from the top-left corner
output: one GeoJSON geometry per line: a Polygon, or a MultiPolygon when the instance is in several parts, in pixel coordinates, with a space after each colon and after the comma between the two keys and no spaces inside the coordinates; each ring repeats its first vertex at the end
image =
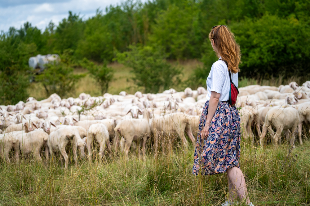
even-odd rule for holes
{"type": "MultiPolygon", "coordinates": [[[[158,68],[166,66],[166,60],[197,58],[204,63],[191,77],[196,82],[193,86],[198,86],[204,84],[216,60],[208,34],[219,24],[228,25],[240,44],[240,76],[287,78],[304,76],[310,70],[310,0],[127,0],[104,11],[97,9],[96,15],[87,20],[69,11],[68,18],[57,26],[50,22],[44,31],[27,22],[20,29],[11,27],[1,32],[0,78],[5,83],[2,81],[0,96],[6,87],[10,90],[14,86],[7,75],[20,77],[29,70],[29,57],[47,53],[69,53],[73,60],[105,64],[119,61],[131,67],[137,67],[133,61],[141,58],[138,66],[150,68],[153,73],[141,68],[134,68],[134,73],[150,76],[159,72],[148,66],[155,62],[152,53],[158,68]],[[143,51],[147,57],[143,57],[143,51]]],[[[173,68],[170,70],[179,74],[173,68]]],[[[177,80],[173,74],[161,74],[177,80]]],[[[26,77],[20,78],[22,82],[26,77]]],[[[136,76],[136,81],[139,79],[136,76]]],[[[137,83],[150,83],[143,81],[137,83]]],[[[164,88],[171,86],[165,83],[166,78],[156,81],[164,88]]],[[[155,87],[145,88],[160,89],[155,87]]]]}

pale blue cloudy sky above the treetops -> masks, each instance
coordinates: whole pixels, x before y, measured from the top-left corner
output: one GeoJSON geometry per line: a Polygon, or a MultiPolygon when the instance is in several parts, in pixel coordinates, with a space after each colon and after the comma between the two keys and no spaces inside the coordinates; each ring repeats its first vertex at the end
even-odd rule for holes
{"type": "MultiPolygon", "coordinates": [[[[0,31],[7,32],[10,27],[20,29],[30,22],[42,31],[50,21],[56,25],[67,18],[69,11],[88,19],[100,8],[104,12],[109,5],[120,5],[125,0],[0,0],[0,31]]],[[[146,2],[147,0],[141,0],[146,2]]]]}

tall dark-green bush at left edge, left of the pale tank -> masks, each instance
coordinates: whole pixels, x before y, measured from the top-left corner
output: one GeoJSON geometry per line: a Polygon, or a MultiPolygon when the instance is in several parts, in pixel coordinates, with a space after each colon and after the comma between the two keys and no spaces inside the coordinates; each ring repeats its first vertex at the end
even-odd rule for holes
{"type": "Polygon", "coordinates": [[[11,36],[0,34],[0,104],[16,104],[28,98],[28,58],[37,50],[34,43],[20,42],[16,31],[11,32],[11,36]]]}

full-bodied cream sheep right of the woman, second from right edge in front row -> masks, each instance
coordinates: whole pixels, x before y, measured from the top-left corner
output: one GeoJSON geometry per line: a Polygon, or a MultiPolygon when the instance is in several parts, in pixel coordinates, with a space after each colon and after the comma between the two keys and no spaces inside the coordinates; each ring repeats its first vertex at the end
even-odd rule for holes
{"type": "MultiPolygon", "coordinates": [[[[272,137],[272,142],[275,146],[278,145],[278,139],[283,130],[290,130],[293,132],[293,137],[290,138],[290,144],[294,146],[294,137],[297,125],[299,123],[298,110],[293,107],[272,107],[265,117],[263,131],[259,138],[259,145],[262,145],[263,139],[266,136],[267,130],[272,134],[272,127],[276,128],[276,133],[272,137]]],[[[289,134],[286,135],[289,138],[289,134]]]]}

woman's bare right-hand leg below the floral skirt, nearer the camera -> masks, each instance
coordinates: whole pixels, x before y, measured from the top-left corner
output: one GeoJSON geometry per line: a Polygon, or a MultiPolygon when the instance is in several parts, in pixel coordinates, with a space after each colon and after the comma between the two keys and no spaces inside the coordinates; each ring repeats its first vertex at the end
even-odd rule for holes
{"type": "MultiPolygon", "coordinates": [[[[243,173],[240,168],[234,166],[229,168],[227,171],[228,179],[230,179],[232,185],[232,191],[236,191],[239,199],[241,201],[246,200],[246,204],[250,203],[250,199],[248,197],[248,191],[246,189],[246,180],[244,179],[243,173]]],[[[229,184],[229,180],[228,180],[229,184]]]]}

